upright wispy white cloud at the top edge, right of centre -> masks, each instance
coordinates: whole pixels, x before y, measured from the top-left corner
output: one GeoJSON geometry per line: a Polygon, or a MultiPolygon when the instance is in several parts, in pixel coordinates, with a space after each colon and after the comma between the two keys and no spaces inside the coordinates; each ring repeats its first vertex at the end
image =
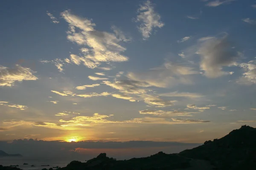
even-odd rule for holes
{"type": "Polygon", "coordinates": [[[154,28],[162,28],[164,26],[164,23],[160,21],[160,14],[154,11],[154,6],[149,0],[140,5],[138,13],[136,22],[141,23],[138,29],[142,33],[143,40],[147,40],[150,37],[154,28]]]}

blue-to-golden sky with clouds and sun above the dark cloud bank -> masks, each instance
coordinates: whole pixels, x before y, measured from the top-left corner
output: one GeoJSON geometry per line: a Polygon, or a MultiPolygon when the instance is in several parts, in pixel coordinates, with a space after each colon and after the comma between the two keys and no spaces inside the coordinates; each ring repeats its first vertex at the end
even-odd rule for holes
{"type": "Polygon", "coordinates": [[[189,144],[256,125],[255,0],[0,6],[1,141],[189,144]]]}

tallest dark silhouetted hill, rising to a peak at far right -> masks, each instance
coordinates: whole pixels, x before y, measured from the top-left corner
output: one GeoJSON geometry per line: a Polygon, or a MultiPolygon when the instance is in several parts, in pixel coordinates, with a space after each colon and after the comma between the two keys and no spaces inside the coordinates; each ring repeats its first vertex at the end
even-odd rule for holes
{"type": "Polygon", "coordinates": [[[242,126],[221,139],[179,153],[192,159],[209,160],[222,170],[255,170],[256,128],[242,126]]]}

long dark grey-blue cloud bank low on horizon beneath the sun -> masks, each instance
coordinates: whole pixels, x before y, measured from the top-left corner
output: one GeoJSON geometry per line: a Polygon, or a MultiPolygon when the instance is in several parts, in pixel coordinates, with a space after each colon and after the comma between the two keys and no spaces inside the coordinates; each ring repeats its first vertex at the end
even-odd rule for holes
{"type": "Polygon", "coordinates": [[[62,142],[19,139],[12,142],[0,142],[0,150],[10,154],[20,153],[23,157],[33,159],[85,160],[103,152],[117,159],[130,159],[148,156],[159,151],[178,153],[199,145],[201,144],[152,141],[62,142]]]}

